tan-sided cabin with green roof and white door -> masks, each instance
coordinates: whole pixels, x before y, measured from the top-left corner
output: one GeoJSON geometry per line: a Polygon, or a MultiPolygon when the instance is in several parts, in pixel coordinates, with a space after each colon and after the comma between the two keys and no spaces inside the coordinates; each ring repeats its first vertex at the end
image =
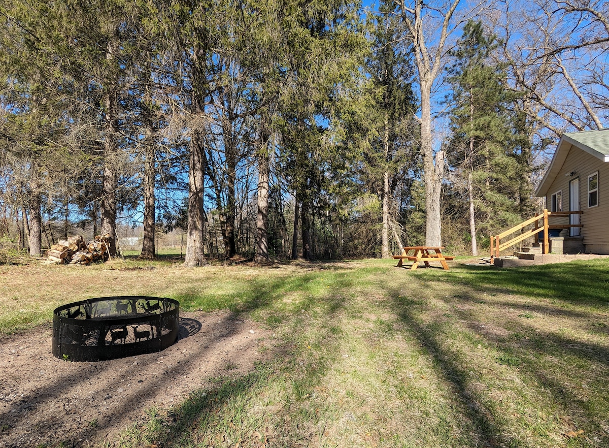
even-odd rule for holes
{"type": "Polygon", "coordinates": [[[563,134],[535,195],[557,215],[549,236],[563,253],[609,254],[609,129],[563,134]]]}

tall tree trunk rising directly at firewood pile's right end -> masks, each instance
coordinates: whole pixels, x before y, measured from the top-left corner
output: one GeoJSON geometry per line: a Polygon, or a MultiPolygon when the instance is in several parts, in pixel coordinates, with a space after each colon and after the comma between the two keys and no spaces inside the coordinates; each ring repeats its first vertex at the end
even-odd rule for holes
{"type": "MultiPolygon", "coordinates": [[[[108,43],[106,60],[112,64],[114,60],[113,46],[108,43]]],[[[105,108],[105,138],[104,138],[104,179],[102,181],[102,200],[100,227],[102,235],[108,235],[108,253],[116,255],[116,190],[118,176],[116,174],[116,155],[118,153],[118,118],[116,107],[118,99],[113,91],[114,85],[108,83],[104,96],[105,108]]]]}

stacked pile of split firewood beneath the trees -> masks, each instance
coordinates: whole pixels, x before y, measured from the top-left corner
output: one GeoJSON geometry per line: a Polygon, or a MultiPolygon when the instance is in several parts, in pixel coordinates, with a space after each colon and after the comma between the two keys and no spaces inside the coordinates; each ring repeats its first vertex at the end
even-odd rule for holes
{"type": "Polygon", "coordinates": [[[46,252],[45,264],[90,265],[95,261],[108,260],[108,238],[110,235],[97,235],[93,241],[85,243],[82,235],[60,240],[46,252]]]}

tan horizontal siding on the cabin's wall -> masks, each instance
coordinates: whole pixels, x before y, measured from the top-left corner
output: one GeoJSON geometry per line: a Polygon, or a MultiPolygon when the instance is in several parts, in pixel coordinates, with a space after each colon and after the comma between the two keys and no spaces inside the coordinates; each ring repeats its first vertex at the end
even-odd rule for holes
{"type": "MultiPolygon", "coordinates": [[[[546,203],[551,205],[552,194],[562,190],[563,211],[568,211],[569,180],[575,177],[579,177],[579,208],[583,212],[581,215],[583,243],[586,246],[590,244],[591,249],[594,247],[598,250],[600,246],[609,244],[609,163],[571,146],[565,163],[548,191],[546,203]],[[571,171],[575,171],[576,174],[573,177],[566,176],[571,171]],[[588,176],[596,171],[599,172],[599,205],[588,208],[588,176]]],[[[560,221],[556,222],[558,224],[560,221]]],[[[568,220],[564,222],[568,223],[568,220]]],[[[586,251],[588,251],[587,248],[586,251]]]]}

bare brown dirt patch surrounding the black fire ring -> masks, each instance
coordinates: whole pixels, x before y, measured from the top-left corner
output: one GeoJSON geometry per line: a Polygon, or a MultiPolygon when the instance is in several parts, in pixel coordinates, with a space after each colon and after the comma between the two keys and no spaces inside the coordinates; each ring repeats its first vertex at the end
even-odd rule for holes
{"type": "Polygon", "coordinates": [[[150,407],[178,404],[217,375],[262,359],[269,332],[228,311],[180,313],[180,337],[162,352],[66,362],[51,354],[49,324],[0,336],[0,447],[87,447],[108,441],[150,407]]]}

